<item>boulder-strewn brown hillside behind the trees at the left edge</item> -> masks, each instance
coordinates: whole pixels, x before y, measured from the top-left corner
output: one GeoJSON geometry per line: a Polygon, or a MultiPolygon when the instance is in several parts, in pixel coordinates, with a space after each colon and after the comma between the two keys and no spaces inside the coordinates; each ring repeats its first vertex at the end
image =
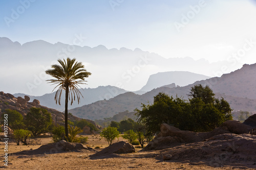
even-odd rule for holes
{"type": "MultiPolygon", "coordinates": [[[[40,102],[36,99],[30,102],[30,98],[27,95],[25,95],[24,98],[22,98],[21,96],[15,98],[15,96],[10,93],[4,93],[3,91],[0,91],[0,116],[4,113],[5,109],[16,110],[20,114],[25,116],[32,107],[43,108],[50,112],[52,115],[53,123],[63,123],[65,119],[65,116],[62,112],[40,105],[40,102]]],[[[70,115],[69,119],[71,121],[74,121],[79,120],[80,118],[74,115],[70,115]]],[[[93,122],[92,120],[88,121],[97,127],[95,122],[93,122]]]]}

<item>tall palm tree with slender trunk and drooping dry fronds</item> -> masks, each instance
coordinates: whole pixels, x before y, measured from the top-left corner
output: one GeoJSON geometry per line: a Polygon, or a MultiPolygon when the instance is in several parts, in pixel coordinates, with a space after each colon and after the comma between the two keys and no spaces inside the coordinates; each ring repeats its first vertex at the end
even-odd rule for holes
{"type": "MultiPolygon", "coordinates": [[[[80,95],[82,96],[81,92],[79,91],[78,87],[79,84],[86,84],[84,82],[87,82],[84,80],[84,78],[88,78],[91,75],[91,72],[87,72],[86,69],[84,69],[84,65],[82,65],[81,62],[77,62],[76,59],[70,59],[67,58],[67,60],[58,59],[58,62],[60,65],[54,64],[52,65],[52,69],[46,70],[46,74],[54,77],[55,79],[47,80],[50,81],[49,83],[57,84],[56,88],[56,94],[55,94],[55,101],[60,105],[60,99],[61,99],[61,93],[62,90],[66,91],[66,97],[65,97],[65,135],[66,138],[68,138],[68,100],[70,100],[71,97],[71,105],[76,100],[77,96],[77,102],[79,104],[80,101],[80,95]]],[[[82,96],[83,97],[83,96],[82,96]]]]}

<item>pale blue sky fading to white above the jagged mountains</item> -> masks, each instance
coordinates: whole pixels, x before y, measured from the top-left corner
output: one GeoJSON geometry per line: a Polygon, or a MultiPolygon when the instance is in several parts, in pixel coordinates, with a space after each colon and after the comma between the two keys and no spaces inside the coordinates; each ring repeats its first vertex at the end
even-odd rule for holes
{"type": "MultiPolygon", "coordinates": [[[[0,37],[256,63],[255,0],[0,1],[0,37]]],[[[0,58],[1,66],[1,58],[0,58]]]]}

